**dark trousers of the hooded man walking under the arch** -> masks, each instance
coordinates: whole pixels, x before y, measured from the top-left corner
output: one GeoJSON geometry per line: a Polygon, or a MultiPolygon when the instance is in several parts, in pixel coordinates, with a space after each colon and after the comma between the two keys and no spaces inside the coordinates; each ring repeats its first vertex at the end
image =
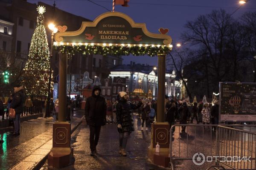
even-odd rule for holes
{"type": "Polygon", "coordinates": [[[96,150],[96,146],[99,141],[99,133],[101,126],[89,126],[90,127],[90,150],[96,150]]]}

